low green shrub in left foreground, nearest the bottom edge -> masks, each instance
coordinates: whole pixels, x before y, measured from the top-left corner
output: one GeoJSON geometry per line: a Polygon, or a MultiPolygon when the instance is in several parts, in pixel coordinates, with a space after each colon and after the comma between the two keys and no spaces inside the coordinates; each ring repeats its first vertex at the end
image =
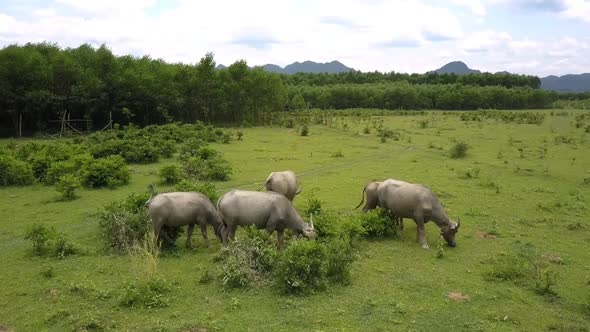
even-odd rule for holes
{"type": "Polygon", "coordinates": [[[162,308],[170,303],[168,293],[170,287],[162,278],[134,280],[123,286],[119,305],[131,308],[162,308]]]}

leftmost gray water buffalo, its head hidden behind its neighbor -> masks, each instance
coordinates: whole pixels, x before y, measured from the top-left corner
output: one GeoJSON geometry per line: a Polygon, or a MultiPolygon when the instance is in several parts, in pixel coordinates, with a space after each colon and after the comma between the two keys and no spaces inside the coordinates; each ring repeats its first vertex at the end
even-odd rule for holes
{"type": "MultiPolygon", "coordinates": [[[[153,195],[153,194],[152,194],[153,195]]],[[[150,197],[146,202],[156,239],[159,240],[162,227],[187,225],[186,246],[191,246],[195,225],[199,225],[203,238],[209,246],[207,225],[213,226],[215,235],[223,243],[227,236],[223,219],[209,198],[198,192],[170,192],[150,197]]],[[[165,233],[164,233],[165,234],[165,233]]],[[[166,235],[165,235],[166,237],[166,235]]],[[[170,239],[166,239],[170,240],[170,239]]]]}

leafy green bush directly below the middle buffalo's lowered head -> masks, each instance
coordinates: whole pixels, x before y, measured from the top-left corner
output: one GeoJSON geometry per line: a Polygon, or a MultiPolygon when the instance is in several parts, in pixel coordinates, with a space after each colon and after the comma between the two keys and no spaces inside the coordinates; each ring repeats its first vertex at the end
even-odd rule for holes
{"type": "Polygon", "coordinates": [[[327,250],[323,244],[295,240],[278,259],[275,282],[283,293],[309,293],[325,288],[327,271],[327,250]]]}

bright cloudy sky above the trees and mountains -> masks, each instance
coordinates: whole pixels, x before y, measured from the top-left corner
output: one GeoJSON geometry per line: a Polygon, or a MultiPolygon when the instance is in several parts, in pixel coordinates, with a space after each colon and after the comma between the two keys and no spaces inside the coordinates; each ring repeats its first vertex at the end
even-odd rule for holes
{"type": "Polygon", "coordinates": [[[590,72],[590,0],[0,0],[0,47],[106,44],[218,64],[338,60],[424,73],[450,61],[538,76],[590,72]]]}

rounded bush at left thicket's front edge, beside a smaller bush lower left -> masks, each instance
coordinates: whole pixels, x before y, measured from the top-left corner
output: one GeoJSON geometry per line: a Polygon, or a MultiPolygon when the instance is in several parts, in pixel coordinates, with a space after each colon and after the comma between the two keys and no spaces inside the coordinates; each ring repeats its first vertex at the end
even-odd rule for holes
{"type": "Polygon", "coordinates": [[[84,164],[82,183],[91,188],[117,187],[129,181],[129,169],[120,156],[95,159],[84,164]]]}

